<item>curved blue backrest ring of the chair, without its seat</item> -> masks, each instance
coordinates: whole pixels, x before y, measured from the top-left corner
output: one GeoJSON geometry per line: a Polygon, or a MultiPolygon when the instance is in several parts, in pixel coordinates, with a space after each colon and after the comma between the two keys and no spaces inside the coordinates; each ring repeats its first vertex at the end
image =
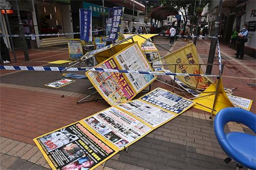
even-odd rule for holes
{"type": "Polygon", "coordinates": [[[244,124],[248,126],[252,131],[254,131],[254,133],[256,133],[256,115],[244,109],[230,107],[219,111],[214,120],[215,134],[225,153],[230,158],[237,161],[238,163],[241,163],[242,165],[245,165],[248,162],[253,163],[253,160],[246,157],[239,151],[234,150],[230,143],[227,141],[226,134],[224,132],[224,126],[228,122],[244,124]]]}

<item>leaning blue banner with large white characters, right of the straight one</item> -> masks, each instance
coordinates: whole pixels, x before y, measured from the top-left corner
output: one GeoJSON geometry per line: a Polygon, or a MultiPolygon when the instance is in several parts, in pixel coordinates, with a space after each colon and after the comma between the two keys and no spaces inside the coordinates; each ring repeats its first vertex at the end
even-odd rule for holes
{"type": "Polygon", "coordinates": [[[123,7],[114,7],[113,11],[113,23],[111,27],[111,32],[109,35],[109,41],[115,41],[118,38],[118,34],[120,34],[121,21],[123,18],[123,7]]]}

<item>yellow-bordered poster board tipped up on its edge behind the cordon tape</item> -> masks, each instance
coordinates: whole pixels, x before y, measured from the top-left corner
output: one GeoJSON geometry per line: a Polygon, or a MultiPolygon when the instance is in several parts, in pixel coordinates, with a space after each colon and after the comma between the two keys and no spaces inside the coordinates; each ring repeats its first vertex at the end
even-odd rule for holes
{"type": "MultiPolygon", "coordinates": [[[[138,44],[132,43],[96,68],[152,71],[138,44]]],[[[103,99],[111,106],[130,101],[152,83],[156,76],[87,71],[86,75],[103,99]]]]}

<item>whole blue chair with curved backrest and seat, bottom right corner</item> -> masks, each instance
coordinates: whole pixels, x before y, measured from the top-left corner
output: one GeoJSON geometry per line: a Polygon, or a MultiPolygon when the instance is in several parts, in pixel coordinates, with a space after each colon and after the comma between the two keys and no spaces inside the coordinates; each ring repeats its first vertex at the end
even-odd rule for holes
{"type": "Polygon", "coordinates": [[[244,124],[256,133],[256,115],[240,108],[225,108],[214,121],[215,135],[224,152],[237,163],[256,169],[256,136],[241,132],[225,134],[224,126],[228,122],[244,124]]]}

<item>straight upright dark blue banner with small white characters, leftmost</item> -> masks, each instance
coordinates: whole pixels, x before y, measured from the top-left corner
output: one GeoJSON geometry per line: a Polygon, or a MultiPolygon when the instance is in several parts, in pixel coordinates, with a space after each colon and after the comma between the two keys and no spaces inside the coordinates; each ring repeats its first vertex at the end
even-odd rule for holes
{"type": "Polygon", "coordinates": [[[79,9],[80,11],[80,40],[92,41],[92,10],[79,9]]]}

